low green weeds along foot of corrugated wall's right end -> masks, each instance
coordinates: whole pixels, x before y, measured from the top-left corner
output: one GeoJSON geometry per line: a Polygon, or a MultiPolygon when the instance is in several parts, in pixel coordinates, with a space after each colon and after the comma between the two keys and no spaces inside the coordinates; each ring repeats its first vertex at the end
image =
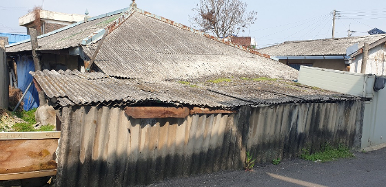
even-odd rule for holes
{"type": "Polygon", "coordinates": [[[339,158],[354,157],[354,154],[349,151],[347,146],[339,144],[337,148],[332,147],[330,144],[325,144],[322,151],[310,154],[309,149],[303,148],[301,158],[305,160],[311,160],[316,162],[328,162],[339,158]]]}

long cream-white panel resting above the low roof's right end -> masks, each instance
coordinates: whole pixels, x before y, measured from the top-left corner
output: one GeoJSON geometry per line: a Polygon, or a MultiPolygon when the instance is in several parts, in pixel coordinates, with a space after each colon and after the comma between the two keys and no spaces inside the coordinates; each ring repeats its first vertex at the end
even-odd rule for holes
{"type": "Polygon", "coordinates": [[[375,76],[301,66],[298,82],[343,94],[372,97],[375,76]]]}

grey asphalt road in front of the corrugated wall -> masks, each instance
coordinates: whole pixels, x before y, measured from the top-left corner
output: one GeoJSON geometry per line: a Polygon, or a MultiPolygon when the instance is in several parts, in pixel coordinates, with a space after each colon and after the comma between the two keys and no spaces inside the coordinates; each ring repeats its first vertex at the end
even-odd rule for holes
{"type": "Polygon", "coordinates": [[[254,171],[222,171],[173,178],[150,186],[386,186],[386,148],[333,162],[303,159],[255,166],[254,171]]]}

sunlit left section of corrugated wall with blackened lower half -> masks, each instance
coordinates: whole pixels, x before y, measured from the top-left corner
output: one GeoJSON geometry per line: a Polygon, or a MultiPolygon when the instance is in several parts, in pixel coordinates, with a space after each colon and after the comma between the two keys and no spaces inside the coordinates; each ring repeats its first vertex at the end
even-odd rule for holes
{"type": "Polygon", "coordinates": [[[233,116],[136,120],[120,108],[65,108],[58,184],[128,186],[230,169],[233,116]]]}

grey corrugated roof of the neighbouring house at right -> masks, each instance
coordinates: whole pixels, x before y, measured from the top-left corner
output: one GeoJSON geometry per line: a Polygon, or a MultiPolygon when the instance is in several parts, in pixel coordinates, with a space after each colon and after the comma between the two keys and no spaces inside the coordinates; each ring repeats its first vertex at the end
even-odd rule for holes
{"type": "Polygon", "coordinates": [[[271,56],[345,56],[347,47],[351,47],[352,45],[358,43],[358,47],[362,48],[363,43],[372,44],[380,39],[384,39],[385,37],[386,34],[378,34],[350,38],[290,41],[265,47],[258,51],[271,56]]]}

